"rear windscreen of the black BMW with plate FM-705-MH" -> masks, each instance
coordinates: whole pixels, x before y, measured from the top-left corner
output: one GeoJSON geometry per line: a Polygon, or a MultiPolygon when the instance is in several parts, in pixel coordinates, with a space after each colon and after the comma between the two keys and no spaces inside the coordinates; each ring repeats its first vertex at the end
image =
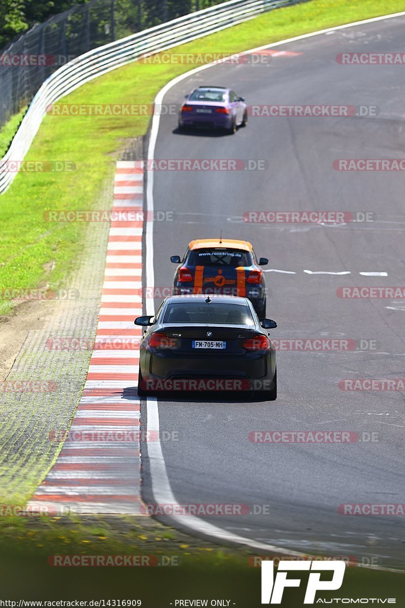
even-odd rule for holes
{"type": "Polygon", "coordinates": [[[188,302],[169,304],[163,323],[220,323],[221,325],[254,325],[249,306],[188,302]]]}

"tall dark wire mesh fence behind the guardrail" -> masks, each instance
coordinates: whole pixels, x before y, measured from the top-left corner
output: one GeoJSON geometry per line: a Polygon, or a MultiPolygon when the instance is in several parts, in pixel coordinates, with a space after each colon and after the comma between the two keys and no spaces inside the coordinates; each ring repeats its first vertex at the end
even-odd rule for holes
{"type": "Polygon", "coordinates": [[[223,0],[90,0],[37,24],[0,53],[0,126],[58,67],[148,27],[223,0]]]}

